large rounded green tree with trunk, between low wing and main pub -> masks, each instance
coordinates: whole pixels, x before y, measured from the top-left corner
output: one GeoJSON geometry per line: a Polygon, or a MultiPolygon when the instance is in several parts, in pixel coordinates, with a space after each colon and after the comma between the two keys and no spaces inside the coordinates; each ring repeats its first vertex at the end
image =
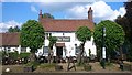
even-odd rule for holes
{"type": "Polygon", "coordinates": [[[44,28],[35,20],[29,20],[22,25],[21,45],[31,49],[31,61],[35,60],[35,52],[44,43],[44,28]]]}

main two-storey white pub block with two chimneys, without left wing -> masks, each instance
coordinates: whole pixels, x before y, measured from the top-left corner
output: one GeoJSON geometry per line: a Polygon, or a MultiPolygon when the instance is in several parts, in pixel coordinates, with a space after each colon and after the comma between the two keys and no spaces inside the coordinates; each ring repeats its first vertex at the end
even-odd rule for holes
{"type": "MultiPolygon", "coordinates": [[[[41,52],[44,56],[48,55],[48,36],[56,36],[57,42],[53,46],[53,55],[65,58],[66,56],[77,56],[79,53],[81,42],[76,38],[75,32],[79,26],[88,26],[91,31],[95,28],[92,20],[92,9],[88,10],[88,19],[50,19],[43,18],[42,10],[40,10],[38,21],[45,29],[45,41],[43,51],[41,52]]],[[[94,38],[85,43],[85,55],[89,56],[89,50],[92,55],[97,55],[97,49],[94,43],[94,38]]]]}

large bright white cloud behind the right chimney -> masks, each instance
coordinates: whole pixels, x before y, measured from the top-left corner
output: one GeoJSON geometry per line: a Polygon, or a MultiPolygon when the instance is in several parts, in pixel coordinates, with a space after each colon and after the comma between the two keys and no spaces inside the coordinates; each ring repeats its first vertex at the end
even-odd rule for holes
{"type": "Polygon", "coordinates": [[[124,15],[125,9],[121,7],[119,10],[113,10],[110,6],[108,6],[103,1],[98,1],[91,4],[85,6],[75,6],[69,8],[66,13],[66,18],[70,19],[87,19],[89,7],[94,10],[94,19],[95,22],[100,22],[101,20],[114,20],[118,15],[124,15]]]}

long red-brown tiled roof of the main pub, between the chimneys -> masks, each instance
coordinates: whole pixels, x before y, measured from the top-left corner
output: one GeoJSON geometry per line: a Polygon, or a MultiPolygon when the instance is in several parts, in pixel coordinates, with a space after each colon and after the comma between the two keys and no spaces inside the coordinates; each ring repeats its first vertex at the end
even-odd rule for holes
{"type": "Polygon", "coordinates": [[[88,26],[94,29],[94,22],[88,19],[80,20],[55,20],[55,19],[41,19],[45,31],[77,31],[79,26],[88,26]]]}

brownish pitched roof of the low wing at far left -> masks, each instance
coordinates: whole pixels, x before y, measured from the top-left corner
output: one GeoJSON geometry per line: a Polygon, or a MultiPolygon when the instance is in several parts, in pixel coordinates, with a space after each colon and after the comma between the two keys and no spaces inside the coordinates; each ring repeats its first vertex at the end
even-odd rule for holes
{"type": "Polygon", "coordinates": [[[20,33],[0,33],[0,46],[18,46],[20,44],[20,33]]]}

